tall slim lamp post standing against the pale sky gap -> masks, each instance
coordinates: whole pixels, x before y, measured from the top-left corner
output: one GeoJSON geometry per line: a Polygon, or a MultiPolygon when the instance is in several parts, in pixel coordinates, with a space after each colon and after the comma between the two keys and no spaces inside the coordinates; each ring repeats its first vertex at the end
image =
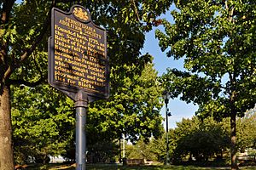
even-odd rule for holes
{"type": "Polygon", "coordinates": [[[170,94],[164,91],[163,99],[165,99],[165,103],[166,103],[166,165],[169,165],[168,116],[171,116],[171,113],[169,112],[167,105],[169,103],[170,94]]]}

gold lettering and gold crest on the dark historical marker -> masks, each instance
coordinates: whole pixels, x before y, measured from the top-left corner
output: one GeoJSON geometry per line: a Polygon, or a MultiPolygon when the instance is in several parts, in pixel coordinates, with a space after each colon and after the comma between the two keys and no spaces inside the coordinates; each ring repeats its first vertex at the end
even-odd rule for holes
{"type": "MultiPolygon", "coordinates": [[[[83,20],[87,16],[79,8],[74,8],[74,14],[83,20]]],[[[64,14],[56,17],[54,31],[55,81],[102,93],[106,87],[104,32],[64,14]]]]}

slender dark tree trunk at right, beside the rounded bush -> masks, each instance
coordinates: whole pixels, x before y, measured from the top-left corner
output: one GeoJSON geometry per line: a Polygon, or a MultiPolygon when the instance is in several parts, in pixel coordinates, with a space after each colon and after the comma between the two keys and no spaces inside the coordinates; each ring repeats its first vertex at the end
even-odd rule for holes
{"type": "Polygon", "coordinates": [[[231,151],[231,170],[237,170],[237,162],[236,162],[236,113],[231,111],[230,116],[230,151],[231,151]]]}

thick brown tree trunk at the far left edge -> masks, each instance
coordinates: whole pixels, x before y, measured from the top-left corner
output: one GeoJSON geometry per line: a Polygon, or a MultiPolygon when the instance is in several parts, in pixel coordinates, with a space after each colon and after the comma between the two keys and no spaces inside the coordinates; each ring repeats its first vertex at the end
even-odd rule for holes
{"type": "Polygon", "coordinates": [[[0,94],[0,169],[14,170],[9,87],[0,94]]]}

